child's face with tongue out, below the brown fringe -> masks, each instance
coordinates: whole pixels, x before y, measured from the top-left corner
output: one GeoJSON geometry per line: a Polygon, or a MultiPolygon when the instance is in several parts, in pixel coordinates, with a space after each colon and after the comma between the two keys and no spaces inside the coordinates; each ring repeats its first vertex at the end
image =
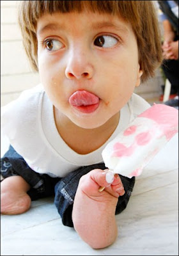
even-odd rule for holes
{"type": "Polygon", "coordinates": [[[130,24],[109,14],[54,13],[38,20],[36,33],[40,79],[59,116],[92,129],[118,115],[142,73],[130,24]]]}

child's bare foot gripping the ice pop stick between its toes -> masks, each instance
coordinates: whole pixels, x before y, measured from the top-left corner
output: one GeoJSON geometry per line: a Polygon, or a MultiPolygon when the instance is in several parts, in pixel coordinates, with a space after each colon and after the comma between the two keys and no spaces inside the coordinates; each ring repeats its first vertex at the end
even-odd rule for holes
{"type": "Polygon", "coordinates": [[[119,175],[113,179],[107,174],[109,184],[106,173],[96,169],[82,176],[74,200],[74,228],[93,248],[104,248],[116,239],[116,204],[125,193],[119,175]],[[98,191],[100,186],[105,186],[102,192],[98,191]]]}

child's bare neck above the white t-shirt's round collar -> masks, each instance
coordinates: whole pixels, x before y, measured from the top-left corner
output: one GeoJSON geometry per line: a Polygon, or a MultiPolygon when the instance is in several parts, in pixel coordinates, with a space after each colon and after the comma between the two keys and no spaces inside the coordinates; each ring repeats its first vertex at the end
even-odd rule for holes
{"type": "Polygon", "coordinates": [[[104,145],[115,131],[120,113],[112,116],[104,125],[95,129],[84,129],[75,125],[66,116],[54,111],[56,127],[65,143],[78,154],[89,154],[104,145]]]}

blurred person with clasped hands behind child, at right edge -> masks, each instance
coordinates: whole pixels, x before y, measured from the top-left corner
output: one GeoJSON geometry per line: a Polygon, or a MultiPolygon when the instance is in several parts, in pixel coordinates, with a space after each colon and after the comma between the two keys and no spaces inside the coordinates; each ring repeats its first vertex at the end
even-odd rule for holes
{"type": "Polygon", "coordinates": [[[162,22],[162,70],[171,83],[169,100],[164,104],[178,107],[178,1],[157,1],[162,22]]]}

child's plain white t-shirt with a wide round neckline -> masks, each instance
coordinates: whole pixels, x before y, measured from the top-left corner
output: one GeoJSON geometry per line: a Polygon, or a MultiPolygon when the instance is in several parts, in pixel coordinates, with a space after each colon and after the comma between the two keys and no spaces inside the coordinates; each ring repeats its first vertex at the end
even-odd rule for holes
{"type": "Polygon", "coordinates": [[[81,155],[68,147],[59,135],[52,103],[39,84],[1,108],[1,132],[35,172],[65,177],[80,166],[103,163],[105,145],[149,107],[148,102],[133,93],[121,109],[118,127],[109,140],[97,150],[81,155]]]}

